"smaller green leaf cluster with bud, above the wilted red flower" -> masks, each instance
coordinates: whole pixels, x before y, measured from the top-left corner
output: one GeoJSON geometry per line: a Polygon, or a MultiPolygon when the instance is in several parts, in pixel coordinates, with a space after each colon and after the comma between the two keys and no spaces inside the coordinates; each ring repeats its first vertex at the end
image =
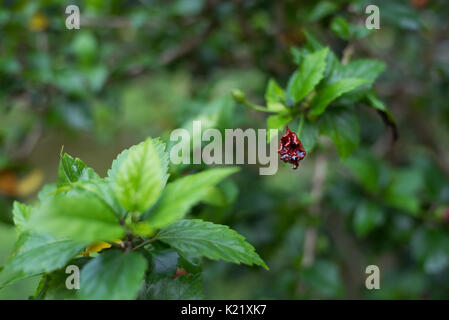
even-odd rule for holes
{"type": "Polygon", "coordinates": [[[293,51],[299,69],[290,77],[286,92],[270,80],[265,92],[266,108],[252,105],[243,93],[234,98],[252,109],[275,112],[267,118],[267,129],[282,130],[293,120],[299,120],[297,134],[304,139],[308,152],[314,149],[319,135],[328,136],[344,159],[360,140],[353,111],[355,102],[367,100],[369,106],[387,116],[389,125],[394,125],[393,115],[372,90],[385,64],[374,59],[340,63],[329,48],[310,34],[307,36],[307,45],[293,51]]]}

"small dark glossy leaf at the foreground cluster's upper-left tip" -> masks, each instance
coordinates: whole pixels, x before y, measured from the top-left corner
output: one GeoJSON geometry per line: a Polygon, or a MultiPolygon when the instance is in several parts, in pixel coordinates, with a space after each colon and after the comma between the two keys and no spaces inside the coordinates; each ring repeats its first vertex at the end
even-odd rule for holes
{"type": "Polygon", "coordinates": [[[58,188],[77,182],[79,180],[98,179],[98,174],[78,158],[72,158],[65,153],[61,155],[58,168],[58,188]]]}

